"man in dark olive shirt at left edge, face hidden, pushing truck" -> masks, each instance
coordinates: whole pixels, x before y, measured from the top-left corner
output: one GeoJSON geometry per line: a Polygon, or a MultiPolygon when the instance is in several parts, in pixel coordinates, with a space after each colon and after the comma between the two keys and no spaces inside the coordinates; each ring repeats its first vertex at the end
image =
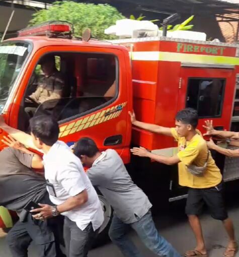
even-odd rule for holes
{"type": "Polygon", "coordinates": [[[36,244],[40,257],[64,256],[56,242],[61,219],[37,221],[24,209],[30,201],[50,203],[44,177],[32,170],[43,168],[41,158],[13,138],[5,137],[3,141],[14,147],[0,152],[0,205],[17,212],[20,219],[7,236],[12,256],[27,257],[31,241],[36,244]]]}

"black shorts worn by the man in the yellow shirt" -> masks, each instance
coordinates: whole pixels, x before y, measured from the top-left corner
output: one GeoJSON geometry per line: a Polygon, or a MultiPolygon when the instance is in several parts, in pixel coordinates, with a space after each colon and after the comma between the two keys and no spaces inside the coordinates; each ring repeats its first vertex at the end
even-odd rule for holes
{"type": "Polygon", "coordinates": [[[200,215],[204,203],[210,210],[212,218],[226,220],[228,218],[223,197],[223,183],[210,188],[189,188],[185,212],[187,215],[200,215]]]}

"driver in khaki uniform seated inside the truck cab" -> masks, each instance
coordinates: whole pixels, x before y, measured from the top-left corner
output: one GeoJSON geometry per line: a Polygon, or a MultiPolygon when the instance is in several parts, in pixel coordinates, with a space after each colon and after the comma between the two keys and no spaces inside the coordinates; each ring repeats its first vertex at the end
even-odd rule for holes
{"type": "Polygon", "coordinates": [[[58,100],[62,97],[64,88],[64,79],[61,72],[55,67],[55,57],[53,55],[46,55],[39,61],[43,78],[40,79],[37,89],[31,95],[27,96],[25,101],[32,106],[26,107],[25,112],[29,117],[33,117],[37,107],[43,102],[46,102],[44,109],[52,109],[56,106],[58,100]]]}

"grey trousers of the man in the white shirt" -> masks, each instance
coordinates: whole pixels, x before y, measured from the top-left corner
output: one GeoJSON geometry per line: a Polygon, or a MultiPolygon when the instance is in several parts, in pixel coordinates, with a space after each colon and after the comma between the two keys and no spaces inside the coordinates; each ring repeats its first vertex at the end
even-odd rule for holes
{"type": "Polygon", "coordinates": [[[67,257],[87,257],[92,243],[96,239],[100,229],[93,230],[90,223],[84,230],[77,227],[76,223],[65,217],[64,240],[67,257]]]}

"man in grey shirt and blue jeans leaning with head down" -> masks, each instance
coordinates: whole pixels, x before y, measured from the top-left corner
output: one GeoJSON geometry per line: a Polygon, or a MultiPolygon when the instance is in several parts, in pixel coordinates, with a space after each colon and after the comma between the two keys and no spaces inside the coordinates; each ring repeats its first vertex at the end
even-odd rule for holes
{"type": "Polygon", "coordinates": [[[88,137],[74,146],[74,154],[89,168],[87,174],[114,209],[109,236],[126,257],[142,257],[127,232],[133,228],[143,243],[155,254],[167,257],[181,255],[161,235],[153,223],[152,204],[144,192],[133,183],[123,161],[113,149],[100,152],[88,137]]]}

